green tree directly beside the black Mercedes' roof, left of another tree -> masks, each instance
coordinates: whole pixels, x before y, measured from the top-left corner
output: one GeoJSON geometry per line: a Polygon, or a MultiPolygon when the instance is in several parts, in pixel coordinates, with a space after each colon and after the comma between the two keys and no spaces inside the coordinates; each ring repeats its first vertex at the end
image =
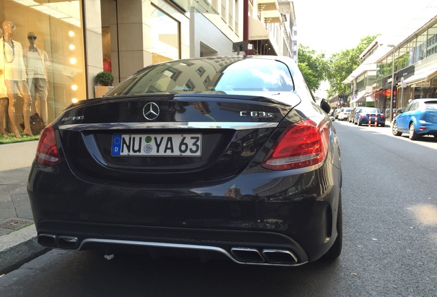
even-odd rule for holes
{"type": "Polygon", "coordinates": [[[306,45],[298,47],[298,66],[311,91],[317,91],[322,81],[326,80],[328,67],[325,54],[317,54],[306,45]]]}

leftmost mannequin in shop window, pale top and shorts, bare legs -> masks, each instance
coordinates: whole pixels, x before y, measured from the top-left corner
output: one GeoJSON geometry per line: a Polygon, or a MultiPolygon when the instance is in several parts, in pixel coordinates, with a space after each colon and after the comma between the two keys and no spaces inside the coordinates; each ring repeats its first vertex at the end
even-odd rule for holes
{"type": "Polygon", "coordinates": [[[8,114],[10,122],[12,123],[12,133],[15,137],[20,138],[21,135],[16,129],[15,121],[15,89],[23,96],[23,119],[24,119],[24,133],[32,136],[30,129],[30,104],[32,98],[30,97],[29,87],[26,83],[26,72],[23,61],[23,47],[17,41],[13,41],[12,37],[15,35],[15,25],[12,21],[3,21],[3,41],[1,43],[2,58],[0,59],[0,74],[3,74],[5,79],[6,90],[8,92],[8,114]]]}

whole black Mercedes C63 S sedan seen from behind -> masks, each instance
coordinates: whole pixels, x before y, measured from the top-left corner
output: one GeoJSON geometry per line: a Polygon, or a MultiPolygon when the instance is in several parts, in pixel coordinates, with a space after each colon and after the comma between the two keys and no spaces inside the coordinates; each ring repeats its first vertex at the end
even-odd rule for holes
{"type": "Polygon", "coordinates": [[[287,57],[150,65],[41,135],[38,243],[302,265],[341,252],[333,123],[287,57]]]}

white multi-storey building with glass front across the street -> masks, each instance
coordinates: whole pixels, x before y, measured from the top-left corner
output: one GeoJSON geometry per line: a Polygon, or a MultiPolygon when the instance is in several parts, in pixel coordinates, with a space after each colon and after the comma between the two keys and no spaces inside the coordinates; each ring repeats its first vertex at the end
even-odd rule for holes
{"type": "Polygon", "coordinates": [[[434,2],[396,36],[379,36],[361,54],[361,64],[344,80],[351,107],[377,107],[392,119],[411,99],[437,98],[434,2]]]}

